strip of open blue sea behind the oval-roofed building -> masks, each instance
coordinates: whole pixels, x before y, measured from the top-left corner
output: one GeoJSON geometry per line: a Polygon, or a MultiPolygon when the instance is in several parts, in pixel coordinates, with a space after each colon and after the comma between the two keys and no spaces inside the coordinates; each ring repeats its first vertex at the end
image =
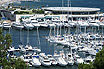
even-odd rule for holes
{"type": "MultiPolygon", "coordinates": [[[[64,6],[67,6],[67,0],[63,0],[64,6]]],[[[39,8],[43,5],[45,7],[62,7],[62,0],[40,0],[40,2],[21,2],[22,5],[29,6],[30,8],[39,8]]],[[[104,11],[104,2],[102,0],[71,0],[71,5],[73,7],[92,7],[100,8],[101,11],[104,11]]]]}

